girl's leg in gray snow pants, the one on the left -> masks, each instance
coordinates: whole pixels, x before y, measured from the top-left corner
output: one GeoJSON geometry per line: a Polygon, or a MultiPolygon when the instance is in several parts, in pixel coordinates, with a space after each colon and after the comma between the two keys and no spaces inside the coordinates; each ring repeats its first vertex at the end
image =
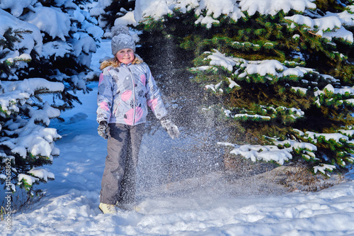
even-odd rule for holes
{"type": "Polygon", "coordinates": [[[108,124],[110,139],[107,144],[107,157],[103,172],[100,202],[115,205],[121,191],[121,181],[125,172],[129,130],[122,124],[108,124]]]}

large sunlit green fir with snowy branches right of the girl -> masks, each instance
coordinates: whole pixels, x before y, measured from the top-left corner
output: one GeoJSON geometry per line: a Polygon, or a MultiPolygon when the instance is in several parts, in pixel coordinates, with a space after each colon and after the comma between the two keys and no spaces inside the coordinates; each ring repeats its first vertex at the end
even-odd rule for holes
{"type": "Polygon", "coordinates": [[[345,0],[137,0],[114,22],[194,53],[207,109],[235,130],[220,145],[325,174],[354,161],[353,13],[345,0]]]}

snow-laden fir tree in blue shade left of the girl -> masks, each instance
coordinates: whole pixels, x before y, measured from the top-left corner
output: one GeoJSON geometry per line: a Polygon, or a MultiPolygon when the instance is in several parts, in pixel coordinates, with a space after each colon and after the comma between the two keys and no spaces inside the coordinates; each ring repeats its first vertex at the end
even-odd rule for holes
{"type": "Polygon", "coordinates": [[[0,2],[0,180],[7,191],[18,184],[33,194],[33,184],[55,177],[42,168],[59,155],[50,119],[80,102],[72,91],[89,90],[91,55],[103,35],[87,2],[0,2]]]}

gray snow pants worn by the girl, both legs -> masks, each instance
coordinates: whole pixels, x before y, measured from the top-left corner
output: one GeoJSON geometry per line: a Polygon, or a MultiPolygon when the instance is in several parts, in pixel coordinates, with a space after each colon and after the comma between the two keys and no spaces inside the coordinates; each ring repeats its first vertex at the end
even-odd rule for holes
{"type": "Polygon", "coordinates": [[[144,123],[139,125],[108,124],[108,139],[100,202],[115,205],[134,203],[137,161],[144,123]]]}

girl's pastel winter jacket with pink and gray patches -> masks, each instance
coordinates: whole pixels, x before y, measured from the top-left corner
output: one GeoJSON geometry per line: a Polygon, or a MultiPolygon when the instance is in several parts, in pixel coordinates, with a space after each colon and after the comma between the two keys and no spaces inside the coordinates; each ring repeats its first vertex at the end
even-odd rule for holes
{"type": "Polygon", "coordinates": [[[148,65],[120,64],[103,69],[98,83],[97,122],[138,125],[147,121],[147,106],[156,118],[167,115],[148,65]]]}

